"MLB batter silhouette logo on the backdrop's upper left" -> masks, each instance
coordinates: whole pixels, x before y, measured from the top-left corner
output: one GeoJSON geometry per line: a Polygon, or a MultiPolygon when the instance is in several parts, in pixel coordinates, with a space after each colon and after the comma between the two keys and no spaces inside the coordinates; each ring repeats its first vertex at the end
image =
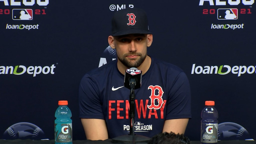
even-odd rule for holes
{"type": "Polygon", "coordinates": [[[13,20],[32,20],[32,9],[13,9],[13,20]]]}

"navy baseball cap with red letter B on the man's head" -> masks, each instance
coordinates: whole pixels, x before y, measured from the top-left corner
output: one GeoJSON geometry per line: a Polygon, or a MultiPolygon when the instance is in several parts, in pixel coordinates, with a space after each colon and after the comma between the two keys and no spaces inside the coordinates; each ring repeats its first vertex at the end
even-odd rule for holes
{"type": "Polygon", "coordinates": [[[146,12],[139,8],[117,11],[112,18],[112,36],[152,34],[149,32],[146,12]]]}

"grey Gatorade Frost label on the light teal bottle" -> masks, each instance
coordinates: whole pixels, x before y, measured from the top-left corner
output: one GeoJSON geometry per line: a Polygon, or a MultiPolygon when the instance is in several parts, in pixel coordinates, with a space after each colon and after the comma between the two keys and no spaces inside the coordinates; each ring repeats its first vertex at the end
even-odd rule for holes
{"type": "Polygon", "coordinates": [[[72,142],[72,124],[55,124],[55,142],[72,142]]]}

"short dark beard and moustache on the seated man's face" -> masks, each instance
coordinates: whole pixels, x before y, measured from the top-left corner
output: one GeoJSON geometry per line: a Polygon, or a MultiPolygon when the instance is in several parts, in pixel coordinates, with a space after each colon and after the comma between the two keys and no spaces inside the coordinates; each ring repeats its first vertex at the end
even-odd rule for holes
{"type": "Polygon", "coordinates": [[[127,54],[124,54],[124,58],[123,58],[123,59],[118,56],[118,59],[121,61],[121,63],[122,63],[124,66],[126,66],[126,67],[128,67],[128,68],[131,68],[131,67],[137,68],[137,67],[139,67],[139,66],[143,63],[143,61],[145,60],[146,56],[147,56],[147,54],[145,54],[144,56],[142,56],[141,53],[135,53],[135,52],[134,52],[134,53],[127,53],[127,54]],[[140,56],[140,58],[137,59],[137,60],[131,60],[131,61],[129,61],[129,60],[126,58],[126,56],[129,56],[129,55],[137,55],[137,56],[140,56]],[[133,62],[132,62],[132,61],[133,61],[133,62]]]}

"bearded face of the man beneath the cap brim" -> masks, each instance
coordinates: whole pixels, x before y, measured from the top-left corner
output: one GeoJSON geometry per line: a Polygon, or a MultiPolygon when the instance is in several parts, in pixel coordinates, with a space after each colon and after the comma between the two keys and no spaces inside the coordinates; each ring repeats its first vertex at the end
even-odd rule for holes
{"type": "Polygon", "coordinates": [[[120,62],[128,67],[139,67],[147,56],[147,35],[129,34],[115,37],[115,48],[120,62]]]}

